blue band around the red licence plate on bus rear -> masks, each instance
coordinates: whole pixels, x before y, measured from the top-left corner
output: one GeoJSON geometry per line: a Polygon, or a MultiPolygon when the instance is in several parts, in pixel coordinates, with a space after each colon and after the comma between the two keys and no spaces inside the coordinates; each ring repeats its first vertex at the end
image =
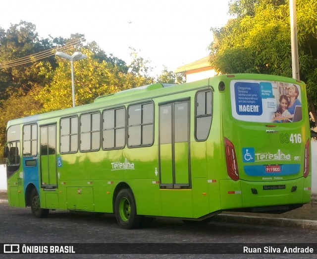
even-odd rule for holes
{"type": "MultiPolygon", "coordinates": [[[[269,166],[269,165],[267,165],[269,166]]],[[[281,176],[281,175],[295,175],[299,173],[300,164],[279,165],[280,172],[266,172],[266,165],[248,165],[244,166],[244,172],[249,176],[281,176]]]]}

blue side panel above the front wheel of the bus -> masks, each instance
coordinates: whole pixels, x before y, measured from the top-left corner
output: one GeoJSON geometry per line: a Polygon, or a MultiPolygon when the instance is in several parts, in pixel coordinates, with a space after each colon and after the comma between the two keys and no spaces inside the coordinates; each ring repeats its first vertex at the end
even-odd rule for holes
{"type": "Polygon", "coordinates": [[[39,160],[38,157],[23,157],[24,193],[26,187],[33,183],[39,193],[39,160]]]}

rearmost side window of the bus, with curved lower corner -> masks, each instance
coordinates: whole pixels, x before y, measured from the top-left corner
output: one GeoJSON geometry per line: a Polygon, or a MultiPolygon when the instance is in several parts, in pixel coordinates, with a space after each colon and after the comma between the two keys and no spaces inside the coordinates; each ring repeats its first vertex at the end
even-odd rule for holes
{"type": "Polygon", "coordinates": [[[211,129],[212,121],[212,92],[200,91],[196,94],[195,138],[205,141],[211,129]]]}

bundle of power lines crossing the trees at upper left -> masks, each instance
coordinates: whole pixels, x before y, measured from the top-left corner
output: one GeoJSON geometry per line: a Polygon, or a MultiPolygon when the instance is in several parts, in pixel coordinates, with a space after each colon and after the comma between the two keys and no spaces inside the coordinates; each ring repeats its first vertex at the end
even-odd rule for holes
{"type": "Polygon", "coordinates": [[[13,60],[13,61],[8,61],[5,63],[2,63],[2,64],[0,64],[0,68],[8,68],[8,67],[12,67],[12,66],[24,65],[24,64],[27,64],[30,62],[39,61],[39,60],[42,60],[42,59],[45,59],[45,58],[48,58],[48,57],[55,55],[55,52],[57,50],[67,51],[67,50],[71,49],[74,45],[79,44],[82,41],[83,41],[82,38],[74,39],[62,47],[55,47],[55,48],[52,48],[49,50],[38,52],[38,53],[33,54],[33,55],[29,55],[29,56],[19,58],[19,59],[13,60]]]}

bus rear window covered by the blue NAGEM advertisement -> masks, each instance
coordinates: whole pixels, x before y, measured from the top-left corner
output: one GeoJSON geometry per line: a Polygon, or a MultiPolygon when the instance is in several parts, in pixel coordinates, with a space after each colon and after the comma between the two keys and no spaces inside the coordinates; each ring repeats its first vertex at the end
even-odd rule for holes
{"type": "Polygon", "coordinates": [[[246,122],[291,123],[302,120],[301,88],[277,81],[233,80],[233,118],[246,122]]]}

